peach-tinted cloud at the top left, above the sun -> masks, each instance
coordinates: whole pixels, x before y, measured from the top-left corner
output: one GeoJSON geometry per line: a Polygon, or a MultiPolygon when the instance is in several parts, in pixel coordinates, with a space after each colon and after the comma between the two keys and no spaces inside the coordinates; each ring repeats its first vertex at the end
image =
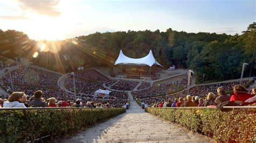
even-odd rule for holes
{"type": "Polygon", "coordinates": [[[61,14],[55,7],[58,5],[59,0],[18,0],[19,6],[23,10],[32,10],[41,15],[57,17],[61,14]]]}

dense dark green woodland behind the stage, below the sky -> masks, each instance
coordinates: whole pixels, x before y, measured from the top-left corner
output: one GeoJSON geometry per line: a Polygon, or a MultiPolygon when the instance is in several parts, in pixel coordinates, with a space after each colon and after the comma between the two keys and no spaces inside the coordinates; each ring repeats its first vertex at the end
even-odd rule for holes
{"type": "Polygon", "coordinates": [[[35,41],[15,30],[0,30],[0,55],[26,58],[33,65],[67,73],[79,66],[113,66],[120,49],[131,58],[141,58],[150,49],[165,68],[176,65],[195,71],[198,82],[239,78],[243,62],[245,76],[255,74],[256,23],[243,34],[187,33],[173,31],[127,31],[83,35],[62,41],[35,41]],[[45,43],[45,48],[42,44],[45,43]],[[38,52],[37,58],[33,54],[38,52]],[[253,55],[254,53],[254,55],[253,55]],[[252,70],[251,70],[252,69],[252,70]]]}

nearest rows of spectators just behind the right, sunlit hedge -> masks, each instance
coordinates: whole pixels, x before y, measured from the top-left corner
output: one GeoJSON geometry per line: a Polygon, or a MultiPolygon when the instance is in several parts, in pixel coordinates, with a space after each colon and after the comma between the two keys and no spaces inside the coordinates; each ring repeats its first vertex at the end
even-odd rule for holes
{"type": "Polygon", "coordinates": [[[243,85],[236,84],[233,86],[233,93],[226,94],[223,87],[217,88],[217,94],[213,92],[208,92],[207,96],[191,96],[186,95],[185,98],[179,97],[163,100],[159,102],[154,102],[151,104],[154,108],[162,107],[196,107],[196,106],[219,106],[223,107],[226,105],[232,106],[255,106],[256,105],[256,88],[253,88],[249,92],[243,85]]]}

